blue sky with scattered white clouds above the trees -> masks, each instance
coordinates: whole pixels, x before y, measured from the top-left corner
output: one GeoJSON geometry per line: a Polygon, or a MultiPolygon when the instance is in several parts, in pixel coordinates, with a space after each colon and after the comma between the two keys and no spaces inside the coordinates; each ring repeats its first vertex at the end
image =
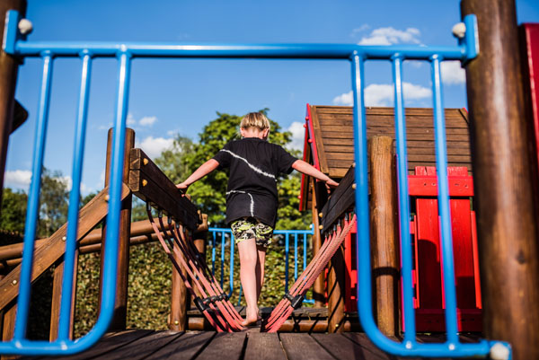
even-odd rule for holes
{"type": "MultiPolygon", "coordinates": [[[[365,43],[454,45],[458,1],[82,1],[29,0],[29,40],[225,43],[365,43]]],[[[518,22],[539,22],[537,0],[517,1],[518,22]]],[[[466,107],[464,74],[444,65],[445,105],[466,107]]],[[[80,60],[57,59],[45,166],[71,173],[80,60]]],[[[84,159],[83,193],[102,189],[106,132],[112,122],[116,60],[96,59],[84,159]]],[[[5,187],[28,189],[40,83],[40,59],[19,70],[16,98],[30,117],[10,138],[5,187]]],[[[404,66],[407,106],[429,107],[429,66],[404,66]]],[[[389,64],[366,65],[367,105],[391,106],[389,64]]],[[[349,63],[335,60],[135,59],[128,124],[137,146],[158,156],[181,134],[197,140],[216,111],[243,115],[270,109],[270,118],[303,138],[305,104],[349,105],[349,63]]],[[[210,157],[212,154],[208,154],[210,157]]],[[[186,174],[187,176],[187,174],[186,174]]]]}

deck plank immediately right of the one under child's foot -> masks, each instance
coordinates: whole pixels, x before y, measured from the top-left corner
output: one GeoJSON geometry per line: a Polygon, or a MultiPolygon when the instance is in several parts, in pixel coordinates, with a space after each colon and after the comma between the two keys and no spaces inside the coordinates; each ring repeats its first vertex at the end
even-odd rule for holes
{"type": "Polygon", "coordinates": [[[281,333],[279,338],[288,360],[334,360],[333,356],[308,334],[281,333]]]}

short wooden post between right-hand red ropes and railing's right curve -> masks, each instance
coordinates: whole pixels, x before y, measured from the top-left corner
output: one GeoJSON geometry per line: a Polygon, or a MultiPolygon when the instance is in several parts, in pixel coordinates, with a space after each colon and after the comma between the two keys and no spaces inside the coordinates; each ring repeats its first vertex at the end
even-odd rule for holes
{"type": "Polygon", "coordinates": [[[328,332],[343,332],[344,327],[344,250],[342,245],[331,258],[328,270],[328,332]]]}

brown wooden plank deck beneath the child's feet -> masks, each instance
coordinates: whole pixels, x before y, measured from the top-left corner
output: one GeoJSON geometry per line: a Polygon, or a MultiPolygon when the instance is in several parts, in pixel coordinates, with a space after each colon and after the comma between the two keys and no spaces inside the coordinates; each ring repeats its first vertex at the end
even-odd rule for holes
{"type": "MultiPolygon", "coordinates": [[[[422,337],[420,341],[442,340],[439,337],[422,337]]],[[[473,341],[473,337],[463,338],[473,341]]],[[[40,357],[51,359],[53,357],[40,357]]],[[[403,359],[388,356],[374,346],[364,333],[306,334],[261,333],[260,328],[236,333],[214,331],[153,331],[131,329],[107,334],[91,349],[75,356],[60,359],[107,360],[334,360],[403,359]]],[[[25,360],[38,357],[24,357],[25,360]]]]}

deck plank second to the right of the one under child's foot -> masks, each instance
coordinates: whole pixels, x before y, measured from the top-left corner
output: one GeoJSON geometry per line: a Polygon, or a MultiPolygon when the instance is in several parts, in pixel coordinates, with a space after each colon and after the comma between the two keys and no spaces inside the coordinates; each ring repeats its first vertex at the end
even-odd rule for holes
{"type": "Polygon", "coordinates": [[[336,359],[385,360],[388,356],[374,355],[342,334],[311,334],[336,359]]]}

